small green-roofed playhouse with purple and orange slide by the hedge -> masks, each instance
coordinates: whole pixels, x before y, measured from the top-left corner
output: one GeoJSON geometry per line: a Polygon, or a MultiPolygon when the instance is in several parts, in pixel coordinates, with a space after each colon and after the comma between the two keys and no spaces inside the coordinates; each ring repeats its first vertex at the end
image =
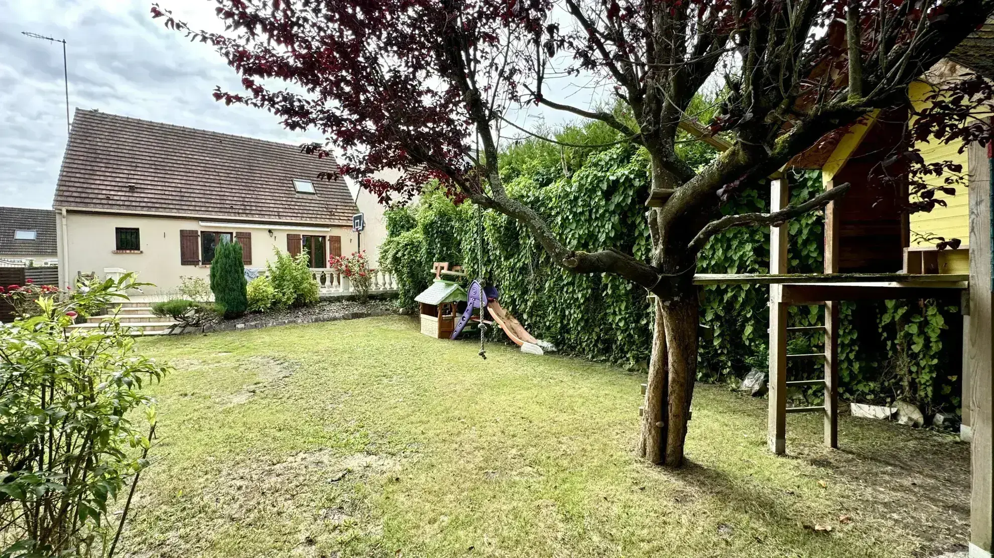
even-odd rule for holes
{"type": "MultiPolygon", "coordinates": [[[[481,324],[484,329],[497,324],[522,352],[544,354],[556,350],[552,344],[535,339],[514,316],[501,308],[497,302],[500,292],[496,288],[473,281],[468,291],[463,289],[456,280],[465,278],[466,274],[459,268],[449,270],[448,262],[435,262],[433,270],[435,279],[431,286],[414,297],[420,310],[421,333],[425,336],[455,340],[464,330],[475,330],[481,324]],[[456,280],[443,279],[442,275],[456,280]]],[[[484,356],[484,352],[481,349],[480,355],[484,356]]]]}

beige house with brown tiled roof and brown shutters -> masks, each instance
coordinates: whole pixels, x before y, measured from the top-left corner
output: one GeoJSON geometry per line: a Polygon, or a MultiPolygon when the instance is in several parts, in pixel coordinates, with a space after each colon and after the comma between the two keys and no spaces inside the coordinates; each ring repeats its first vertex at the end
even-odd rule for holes
{"type": "Polygon", "coordinates": [[[275,249],[326,268],[360,241],[337,171],[295,145],[78,109],[53,204],[60,284],[135,271],[169,293],[181,276],[208,277],[226,241],[242,243],[248,268],[275,249]]]}

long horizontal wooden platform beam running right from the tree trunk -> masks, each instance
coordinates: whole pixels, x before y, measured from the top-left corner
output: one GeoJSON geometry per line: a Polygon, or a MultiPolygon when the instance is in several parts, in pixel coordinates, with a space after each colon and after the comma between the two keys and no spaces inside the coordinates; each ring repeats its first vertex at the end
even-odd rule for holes
{"type": "MultiPolygon", "coordinates": [[[[779,227],[783,228],[783,227],[779,227]]],[[[773,250],[770,236],[770,251],[773,250]]],[[[772,263],[770,271],[772,271],[772,263]]],[[[909,274],[909,273],[698,273],[695,285],[777,285],[784,283],[895,283],[895,286],[918,284],[960,283],[948,288],[966,287],[969,275],[964,274],[909,274]]]]}

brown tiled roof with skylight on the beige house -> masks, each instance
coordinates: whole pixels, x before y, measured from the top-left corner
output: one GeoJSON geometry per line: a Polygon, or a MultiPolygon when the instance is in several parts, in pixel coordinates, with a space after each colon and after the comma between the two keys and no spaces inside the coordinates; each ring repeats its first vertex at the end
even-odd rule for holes
{"type": "Polygon", "coordinates": [[[294,145],[77,109],[54,207],[351,226],[345,182],[317,178],[337,171],[294,145]]]}

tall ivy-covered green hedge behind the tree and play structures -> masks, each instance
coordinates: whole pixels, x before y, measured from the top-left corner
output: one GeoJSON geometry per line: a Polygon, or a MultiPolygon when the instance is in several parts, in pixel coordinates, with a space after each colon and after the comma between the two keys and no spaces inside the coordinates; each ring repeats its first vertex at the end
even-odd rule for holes
{"type": "MultiPolygon", "coordinates": [[[[561,141],[609,143],[616,136],[598,124],[567,128],[561,141]]],[[[692,165],[712,153],[685,144],[692,165]]],[[[647,258],[649,231],[641,201],[649,190],[644,150],[630,145],[567,149],[526,141],[501,155],[501,176],[511,196],[546,217],[553,230],[577,249],[613,246],[647,258]]],[[[817,172],[792,179],[791,201],[821,191],[817,172]]],[[[727,213],[765,210],[768,191],[747,191],[727,213]]],[[[810,213],[789,222],[789,271],[822,268],[822,220],[810,213]]],[[[399,303],[414,308],[414,296],[433,277],[431,262],[461,264],[470,277],[500,288],[501,305],[536,337],[598,360],[644,365],[652,313],[645,291],[611,275],[576,275],[554,265],[516,220],[471,204],[457,205],[428,189],[412,207],[387,211],[388,239],[381,264],[392,270],[399,303]]],[[[702,273],[763,273],[768,270],[769,231],[740,227],[711,239],[698,260],[702,273]]],[[[735,381],[751,368],[766,368],[768,288],[708,286],[701,302],[699,379],[735,381]]],[[[792,307],[791,326],[823,323],[820,306],[792,307]]],[[[961,319],[958,309],[935,301],[882,301],[841,305],[840,392],[852,401],[901,398],[928,411],[958,408],[961,319]]],[[[789,351],[817,352],[822,334],[791,334],[789,351]]],[[[790,379],[820,376],[820,361],[789,363],[790,379]]],[[[820,400],[809,388],[792,397],[820,400]]]]}

